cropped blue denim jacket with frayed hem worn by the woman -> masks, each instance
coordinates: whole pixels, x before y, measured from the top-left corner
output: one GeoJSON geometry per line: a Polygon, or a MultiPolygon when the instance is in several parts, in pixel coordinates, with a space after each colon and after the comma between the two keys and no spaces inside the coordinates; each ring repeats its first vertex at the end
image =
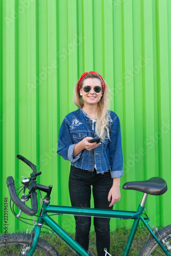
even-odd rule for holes
{"type": "Polygon", "coordinates": [[[118,116],[110,111],[108,116],[110,140],[92,151],[83,150],[73,157],[74,146],[85,137],[97,138],[95,134],[95,121],[82,110],[78,109],[69,113],[63,120],[58,139],[57,154],[71,161],[71,164],[81,169],[93,172],[96,163],[97,173],[111,171],[111,177],[123,175],[123,157],[120,134],[120,122],[118,116]]]}

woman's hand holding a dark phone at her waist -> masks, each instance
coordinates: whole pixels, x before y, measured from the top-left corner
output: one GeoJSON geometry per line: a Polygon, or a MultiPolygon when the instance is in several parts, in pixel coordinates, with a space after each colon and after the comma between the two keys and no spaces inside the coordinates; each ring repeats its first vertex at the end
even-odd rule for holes
{"type": "Polygon", "coordinates": [[[84,149],[91,151],[93,148],[99,146],[101,143],[90,143],[89,140],[93,139],[92,137],[86,137],[80,142],[78,142],[74,147],[73,157],[77,156],[84,149]]]}

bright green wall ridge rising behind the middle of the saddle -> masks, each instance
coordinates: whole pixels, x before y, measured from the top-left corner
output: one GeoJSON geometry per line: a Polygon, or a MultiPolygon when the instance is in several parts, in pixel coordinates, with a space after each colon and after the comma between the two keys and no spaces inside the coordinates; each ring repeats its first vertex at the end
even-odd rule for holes
{"type": "MultiPolygon", "coordinates": [[[[145,87],[145,126],[146,137],[148,141],[155,134],[154,127],[154,84],[153,84],[153,32],[152,32],[152,3],[144,2],[144,87],[145,87]],[[147,29],[148,28],[148,29],[147,29]],[[150,40],[149,40],[150,38],[150,40]],[[150,85],[150,86],[149,86],[150,85]],[[151,110],[149,112],[149,110],[151,110]]],[[[146,144],[146,142],[145,142],[146,144]]],[[[146,173],[147,179],[155,176],[155,166],[152,159],[155,159],[155,144],[151,147],[145,147],[146,173]]],[[[147,207],[156,208],[156,202],[153,197],[149,197],[147,207]]]]}

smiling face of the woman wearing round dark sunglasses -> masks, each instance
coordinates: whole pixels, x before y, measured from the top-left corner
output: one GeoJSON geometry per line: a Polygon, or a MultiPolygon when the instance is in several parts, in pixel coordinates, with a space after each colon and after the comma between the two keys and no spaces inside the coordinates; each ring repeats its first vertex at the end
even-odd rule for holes
{"type": "Polygon", "coordinates": [[[101,81],[98,78],[87,78],[83,81],[82,88],[80,89],[80,94],[82,94],[82,98],[84,100],[84,105],[96,105],[102,96],[102,90],[100,92],[95,92],[95,87],[101,87],[101,81]],[[91,89],[89,92],[84,92],[83,88],[86,86],[90,86],[91,89]]]}

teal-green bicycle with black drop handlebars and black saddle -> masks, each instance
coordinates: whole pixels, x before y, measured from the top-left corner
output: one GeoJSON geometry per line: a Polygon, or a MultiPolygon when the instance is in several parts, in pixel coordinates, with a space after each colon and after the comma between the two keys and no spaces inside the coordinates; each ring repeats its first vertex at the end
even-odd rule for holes
{"type": "MultiPolygon", "coordinates": [[[[138,255],[147,256],[147,255],[158,255],[158,248],[161,248],[161,253],[164,255],[171,255],[171,245],[169,241],[171,240],[171,225],[168,225],[159,231],[156,229],[156,232],[152,230],[152,228],[148,225],[149,218],[142,217],[144,204],[149,195],[162,195],[167,191],[167,184],[165,180],[159,177],[153,177],[146,181],[138,181],[138,182],[126,182],[123,185],[123,189],[133,189],[143,192],[143,197],[140,205],[138,206],[137,211],[121,211],[121,210],[104,210],[104,209],[94,209],[94,208],[78,208],[78,207],[70,207],[70,206],[58,206],[58,205],[50,205],[50,195],[52,191],[52,185],[44,186],[36,183],[36,177],[41,174],[41,172],[37,173],[36,166],[31,163],[29,160],[24,158],[21,155],[16,156],[18,159],[24,161],[28,164],[33,172],[30,175],[30,178],[24,178],[22,184],[24,185],[24,193],[21,199],[19,199],[16,195],[16,190],[14,186],[14,180],[12,177],[7,178],[7,185],[9,188],[9,193],[13,203],[20,209],[18,215],[15,214],[14,208],[12,209],[13,213],[17,218],[20,217],[20,214],[25,212],[29,216],[34,216],[37,214],[38,206],[37,206],[37,197],[36,190],[44,191],[46,193],[45,198],[42,200],[42,206],[40,210],[40,214],[38,215],[37,224],[34,225],[31,234],[20,234],[13,233],[8,234],[8,241],[5,240],[5,236],[2,235],[0,237],[0,255],[3,251],[5,251],[6,255],[12,255],[13,246],[19,246],[21,255],[40,255],[39,253],[46,255],[59,255],[55,248],[49,244],[47,241],[39,238],[40,229],[43,224],[46,224],[51,228],[51,231],[57,233],[57,235],[65,241],[75,252],[77,255],[88,256],[92,255],[90,251],[84,250],[74,239],[72,239],[69,234],[63,230],[51,217],[48,213],[51,214],[70,214],[70,215],[82,215],[82,216],[95,216],[95,217],[105,217],[105,218],[120,218],[120,219],[134,219],[132,229],[130,231],[129,238],[127,239],[126,246],[123,251],[123,256],[128,255],[130,247],[132,245],[134,235],[136,229],[138,227],[138,223],[141,220],[145,227],[148,229],[149,233],[151,233],[151,238],[147,240],[147,242],[143,245],[138,255]],[[25,195],[26,188],[29,189],[29,194],[25,195]],[[31,206],[29,208],[25,205],[25,201],[31,199],[31,206]],[[33,233],[34,237],[33,237],[33,233]],[[157,253],[155,250],[157,248],[157,253]]],[[[14,206],[14,205],[13,205],[14,206]]],[[[111,255],[108,251],[105,250],[105,255],[111,255]]],[[[18,255],[20,255],[18,253],[18,255]]],[[[41,255],[42,255],[41,254],[41,255]]],[[[160,255],[160,254],[159,254],[160,255]]]]}

